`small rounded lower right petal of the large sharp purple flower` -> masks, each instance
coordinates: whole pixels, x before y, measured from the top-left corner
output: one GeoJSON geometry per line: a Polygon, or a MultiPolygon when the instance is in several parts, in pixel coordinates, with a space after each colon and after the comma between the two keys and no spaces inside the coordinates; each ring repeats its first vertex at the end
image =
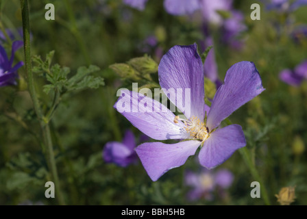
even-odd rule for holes
{"type": "Polygon", "coordinates": [[[240,125],[228,125],[217,129],[205,140],[199,151],[199,162],[208,169],[214,168],[245,145],[245,136],[240,125]]]}

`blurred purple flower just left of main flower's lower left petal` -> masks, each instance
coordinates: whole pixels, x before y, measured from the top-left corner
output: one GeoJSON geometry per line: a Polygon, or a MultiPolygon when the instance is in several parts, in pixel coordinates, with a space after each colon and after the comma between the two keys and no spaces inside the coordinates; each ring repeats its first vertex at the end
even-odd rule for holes
{"type": "Polygon", "coordinates": [[[126,131],[123,142],[108,142],[103,148],[103,159],[106,163],[114,163],[126,167],[137,161],[134,151],[136,142],[132,131],[126,131]]]}

